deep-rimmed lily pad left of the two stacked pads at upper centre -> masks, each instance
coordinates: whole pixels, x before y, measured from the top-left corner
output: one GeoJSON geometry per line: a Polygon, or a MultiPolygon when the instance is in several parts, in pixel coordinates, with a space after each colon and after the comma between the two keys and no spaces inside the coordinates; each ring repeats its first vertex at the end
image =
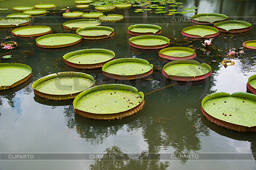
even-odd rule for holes
{"type": "Polygon", "coordinates": [[[76,30],[76,33],[82,36],[84,40],[100,40],[115,35],[112,27],[104,26],[80,27],[76,30]]]}

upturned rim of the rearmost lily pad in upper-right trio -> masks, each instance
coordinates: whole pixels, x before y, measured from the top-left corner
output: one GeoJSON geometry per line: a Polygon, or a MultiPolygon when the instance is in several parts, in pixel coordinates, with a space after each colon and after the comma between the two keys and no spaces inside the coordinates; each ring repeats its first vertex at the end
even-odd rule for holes
{"type": "Polygon", "coordinates": [[[228,16],[227,15],[223,15],[223,14],[220,14],[220,13],[199,13],[199,14],[196,14],[196,15],[193,15],[191,17],[191,22],[194,23],[194,24],[215,24],[216,22],[220,22],[220,21],[223,21],[223,20],[216,20],[214,22],[209,22],[209,21],[206,21],[206,20],[196,20],[195,18],[197,17],[204,17],[204,16],[214,16],[214,17],[222,17],[223,20],[227,20],[228,19],[228,16]]]}

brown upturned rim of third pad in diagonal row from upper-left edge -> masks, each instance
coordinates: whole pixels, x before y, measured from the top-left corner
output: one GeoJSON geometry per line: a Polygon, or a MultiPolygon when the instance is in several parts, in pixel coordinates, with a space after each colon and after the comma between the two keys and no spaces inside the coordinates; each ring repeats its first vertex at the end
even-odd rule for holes
{"type": "Polygon", "coordinates": [[[82,36],[79,36],[79,35],[75,35],[75,34],[70,34],[70,33],[56,33],[56,34],[51,34],[51,35],[43,35],[43,36],[40,36],[38,38],[36,38],[36,45],[38,47],[41,47],[41,48],[46,48],[46,49],[52,49],[52,48],[62,48],[62,47],[69,47],[71,45],[75,45],[79,42],[81,42],[82,40],[82,36]],[[72,42],[72,43],[65,43],[65,44],[62,44],[62,45],[40,45],[40,43],[38,43],[40,40],[44,39],[44,38],[49,38],[51,36],[76,36],[77,37],[77,41],[76,42],[72,42]]]}

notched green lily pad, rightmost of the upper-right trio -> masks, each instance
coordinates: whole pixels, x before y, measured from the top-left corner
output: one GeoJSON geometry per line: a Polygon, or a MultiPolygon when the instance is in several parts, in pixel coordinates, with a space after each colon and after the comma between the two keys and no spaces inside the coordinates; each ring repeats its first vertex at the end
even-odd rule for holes
{"type": "Polygon", "coordinates": [[[251,26],[252,24],[250,24],[249,22],[245,22],[243,20],[225,20],[214,24],[214,27],[224,29],[225,31],[239,31],[241,29],[250,28],[251,26]]]}

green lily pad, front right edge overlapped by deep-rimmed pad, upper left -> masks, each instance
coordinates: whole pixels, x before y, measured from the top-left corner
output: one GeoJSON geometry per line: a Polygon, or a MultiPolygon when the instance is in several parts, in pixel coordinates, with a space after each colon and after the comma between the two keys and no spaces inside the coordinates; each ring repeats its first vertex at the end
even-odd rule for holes
{"type": "Polygon", "coordinates": [[[70,20],[63,24],[65,29],[78,29],[79,27],[89,27],[89,26],[100,26],[100,20],[98,19],[78,19],[70,20]]]}

